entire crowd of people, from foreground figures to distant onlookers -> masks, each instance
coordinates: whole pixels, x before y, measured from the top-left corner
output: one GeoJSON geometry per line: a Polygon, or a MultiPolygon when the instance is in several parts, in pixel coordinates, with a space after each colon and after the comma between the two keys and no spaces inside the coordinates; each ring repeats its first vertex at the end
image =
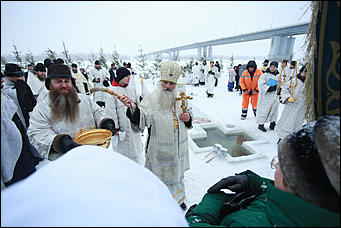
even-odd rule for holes
{"type": "MultiPolygon", "coordinates": [[[[277,132],[275,181],[250,170],[222,179],[202,202],[188,209],[189,225],[340,225],[340,118],[325,116],[303,126],[305,66],[297,71],[295,61],[290,67],[287,61],[280,69],[278,65],[266,60],[258,69],[250,60],[243,70],[239,64],[229,71],[227,86],[242,94],[241,120],[247,118],[251,102],[258,129],[265,132],[264,125],[269,123],[277,132]],[[285,107],[276,123],[280,103],[285,107]],[[326,132],[336,137],[325,140],[326,132]],[[298,206],[291,210],[292,205],[298,206]]],[[[206,86],[207,98],[214,98],[222,72],[219,62],[196,62],[192,71],[193,85],[206,86]]],[[[25,73],[17,64],[7,63],[1,72],[1,189],[34,175],[44,160],[80,150],[75,131],[107,129],[118,139],[111,145],[113,150],[150,170],[167,186],[176,204],[187,210],[187,130],[193,128],[194,117],[191,107],[176,99],[182,74],[177,63],[165,62],[156,89],[140,94],[130,63],[111,64],[107,70],[96,60],[88,73],[60,58],[30,64],[25,73]]]]}

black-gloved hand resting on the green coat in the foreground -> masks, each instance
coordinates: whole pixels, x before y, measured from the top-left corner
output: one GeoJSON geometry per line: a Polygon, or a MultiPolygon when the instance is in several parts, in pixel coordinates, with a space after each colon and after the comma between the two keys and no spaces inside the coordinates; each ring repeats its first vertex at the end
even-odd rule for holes
{"type": "Polygon", "coordinates": [[[233,192],[242,192],[250,187],[250,180],[247,175],[229,176],[221,179],[218,183],[210,187],[207,192],[219,192],[221,189],[230,189],[233,192]]]}

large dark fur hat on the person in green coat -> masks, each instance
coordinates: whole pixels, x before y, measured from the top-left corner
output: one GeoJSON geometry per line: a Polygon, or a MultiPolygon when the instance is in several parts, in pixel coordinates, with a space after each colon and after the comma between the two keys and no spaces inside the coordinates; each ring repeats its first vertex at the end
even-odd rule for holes
{"type": "Polygon", "coordinates": [[[322,208],[339,208],[339,116],[322,116],[286,136],[278,145],[278,159],[294,195],[322,208]]]}

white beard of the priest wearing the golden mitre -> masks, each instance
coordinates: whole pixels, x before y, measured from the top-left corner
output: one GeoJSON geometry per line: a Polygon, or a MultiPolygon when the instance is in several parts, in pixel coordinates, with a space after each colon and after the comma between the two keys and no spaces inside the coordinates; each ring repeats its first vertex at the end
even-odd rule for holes
{"type": "Polygon", "coordinates": [[[176,88],[173,91],[165,91],[161,84],[158,83],[156,91],[154,92],[154,102],[160,109],[172,109],[175,105],[176,94],[176,88]]]}

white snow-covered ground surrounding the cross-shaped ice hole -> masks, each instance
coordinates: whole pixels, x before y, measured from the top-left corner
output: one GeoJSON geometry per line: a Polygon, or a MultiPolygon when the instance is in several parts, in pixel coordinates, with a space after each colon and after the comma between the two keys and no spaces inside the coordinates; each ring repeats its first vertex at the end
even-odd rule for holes
{"type": "MultiPolygon", "coordinates": [[[[226,71],[226,70],[225,70],[226,71]]],[[[262,132],[257,128],[255,117],[249,105],[246,120],[241,120],[242,96],[239,92],[229,92],[227,90],[227,75],[224,73],[218,81],[218,86],[214,89],[214,98],[207,98],[206,87],[186,86],[186,95],[193,97],[189,100],[189,106],[193,108],[194,118],[210,119],[213,123],[221,126],[234,126],[233,129],[242,129],[255,138],[254,141],[245,142],[253,151],[264,155],[263,158],[254,160],[234,158],[236,162],[228,162],[224,158],[215,158],[209,163],[205,161],[208,152],[197,153],[190,147],[190,170],[185,172],[186,204],[191,206],[201,201],[207,189],[219,181],[221,178],[234,175],[247,169],[267,177],[274,178],[275,170],[270,168],[271,159],[277,154],[277,134],[269,129],[269,124],[265,124],[267,132],[262,132]],[[238,161],[238,159],[240,161],[238,161]]],[[[135,78],[137,90],[140,90],[140,81],[135,78]]],[[[153,81],[144,80],[144,84],[149,91],[153,90],[153,81]]],[[[282,113],[283,105],[279,106],[279,116],[282,113]]],[[[198,124],[194,124],[198,125],[198,124]]],[[[200,125],[200,124],[199,124],[200,125]]],[[[196,127],[189,130],[189,135],[196,130],[196,127]]],[[[210,156],[211,157],[211,156],[210,156]]]]}

